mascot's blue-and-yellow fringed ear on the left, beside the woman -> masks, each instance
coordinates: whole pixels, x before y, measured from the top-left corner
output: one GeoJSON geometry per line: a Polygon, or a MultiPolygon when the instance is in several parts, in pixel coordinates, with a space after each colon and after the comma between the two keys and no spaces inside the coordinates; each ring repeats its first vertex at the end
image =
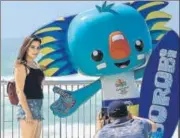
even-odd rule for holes
{"type": "Polygon", "coordinates": [[[32,35],[42,41],[38,63],[46,76],[62,76],[77,73],[68,49],[67,32],[75,17],[60,17],[36,30],[32,35]]]}

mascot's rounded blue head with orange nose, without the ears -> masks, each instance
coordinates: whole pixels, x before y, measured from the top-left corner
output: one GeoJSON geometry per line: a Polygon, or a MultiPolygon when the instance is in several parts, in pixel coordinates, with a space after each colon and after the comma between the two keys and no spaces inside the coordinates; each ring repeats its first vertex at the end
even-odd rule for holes
{"type": "Polygon", "coordinates": [[[106,5],[80,13],[71,22],[68,44],[80,71],[111,75],[144,64],[151,36],[142,15],[127,5],[106,5]]]}

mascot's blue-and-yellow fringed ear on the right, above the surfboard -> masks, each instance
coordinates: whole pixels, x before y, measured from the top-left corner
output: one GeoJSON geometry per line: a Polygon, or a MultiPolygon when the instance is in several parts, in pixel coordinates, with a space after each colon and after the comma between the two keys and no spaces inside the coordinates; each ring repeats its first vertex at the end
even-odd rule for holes
{"type": "Polygon", "coordinates": [[[143,16],[148,25],[153,48],[163,38],[163,36],[171,29],[165,27],[165,24],[171,19],[171,15],[160,11],[162,8],[168,5],[166,1],[134,1],[125,3],[137,11],[143,16]]]}

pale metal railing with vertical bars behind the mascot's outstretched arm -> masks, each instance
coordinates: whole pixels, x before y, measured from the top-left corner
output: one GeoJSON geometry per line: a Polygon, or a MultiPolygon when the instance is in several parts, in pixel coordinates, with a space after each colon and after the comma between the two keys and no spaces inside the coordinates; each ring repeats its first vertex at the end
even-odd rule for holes
{"type": "MultiPolygon", "coordinates": [[[[42,121],[43,128],[41,138],[92,138],[96,130],[96,115],[101,109],[102,93],[97,92],[90,100],[67,118],[54,116],[49,109],[50,105],[59,98],[59,95],[52,91],[54,86],[62,89],[77,90],[92,81],[45,81],[43,112],[45,120],[42,121]]],[[[138,82],[137,84],[140,84],[138,82]]],[[[16,107],[8,100],[7,81],[1,81],[0,94],[0,126],[1,138],[20,138],[19,123],[16,120],[16,107]]]]}

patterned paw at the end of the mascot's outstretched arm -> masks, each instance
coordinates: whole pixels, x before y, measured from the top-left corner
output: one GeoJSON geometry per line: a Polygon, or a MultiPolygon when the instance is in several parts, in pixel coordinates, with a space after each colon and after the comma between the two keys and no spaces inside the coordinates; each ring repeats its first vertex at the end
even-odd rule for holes
{"type": "Polygon", "coordinates": [[[54,115],[59,117],[68,116],[72,107],[74,107],[74,104],[76,103],[72,94],[68,91],[62,90],[59,87],[54,87],[53,91],[58,93],[60,97],[50,106],[50,109],[53,111],[54,115]]]}

